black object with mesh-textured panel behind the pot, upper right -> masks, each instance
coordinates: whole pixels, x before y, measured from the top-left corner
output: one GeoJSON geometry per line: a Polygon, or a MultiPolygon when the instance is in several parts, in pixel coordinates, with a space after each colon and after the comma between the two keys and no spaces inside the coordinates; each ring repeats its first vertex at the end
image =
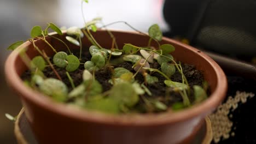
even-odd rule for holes
{"type": "Polygon", "coordinates": [[[255,0],[166,0],[171,32],[191,45],[230,56],[256,56],[255,0]]]}

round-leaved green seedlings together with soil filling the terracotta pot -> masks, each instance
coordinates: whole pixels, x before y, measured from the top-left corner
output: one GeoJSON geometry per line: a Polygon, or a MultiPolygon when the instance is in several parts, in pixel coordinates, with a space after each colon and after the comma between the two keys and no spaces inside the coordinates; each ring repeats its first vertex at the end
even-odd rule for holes
{"type": "MultiPolygon", "coordinates": [[[[147,46],[124,44],[118,47],[114,35],[106,30],[113,40],[112,47],[102,47],[92,35],[97,31],[96,24],[100,21],[94,19],[86,22],[83,28],[66,29],[66,40],[80,46],[79,51],[75,52],[58,37],[48,35],[49,29],[63,35],[54,23],[48,23],[45,29],[33,27],[30,41],[39,55],[30,59],[26,49],[19,51],[28,67],[25,74],[29,77],[25,76],[24,80],[26,85],[55,101],[107,113],[180,110],[207,98],[207,82],[203,80],[201,71],[192,65],[174,61],[170,54],[175,51],[174,46],[159,43],[162,32],[158,25],[149,28],[147,46]],[[46,37],[61,41],[66,51],[56,51],[46,37]],[[92,44],[90,47],[82,46],[84,37],[92,44]],[[55,52],[54,56],[47,56],[34,43],[35,40],[43,40],[48,44],[55,52]],[[156,41],[157,47],[151,46],[152,40],[156,41]],[[193,74],[189,74],[189,71],[184,74],[186,68],[191,69],[193,74],[201,75],[197,85],[187,79],[193,74]],[[46,76],[49,70],[54,76],[46,76]],[[60,75],[63,70],[65,75],[60,75]],[[81,77],[74,80],[77,71],[81,71],[81,77]],[[62,80],[65,77],[68,82],[62,80]],[[174,81],[177,77],[180,80],[174,81]]],[[[18,41],[8,49],[14,50],[22,43],[18,41]]]]}

